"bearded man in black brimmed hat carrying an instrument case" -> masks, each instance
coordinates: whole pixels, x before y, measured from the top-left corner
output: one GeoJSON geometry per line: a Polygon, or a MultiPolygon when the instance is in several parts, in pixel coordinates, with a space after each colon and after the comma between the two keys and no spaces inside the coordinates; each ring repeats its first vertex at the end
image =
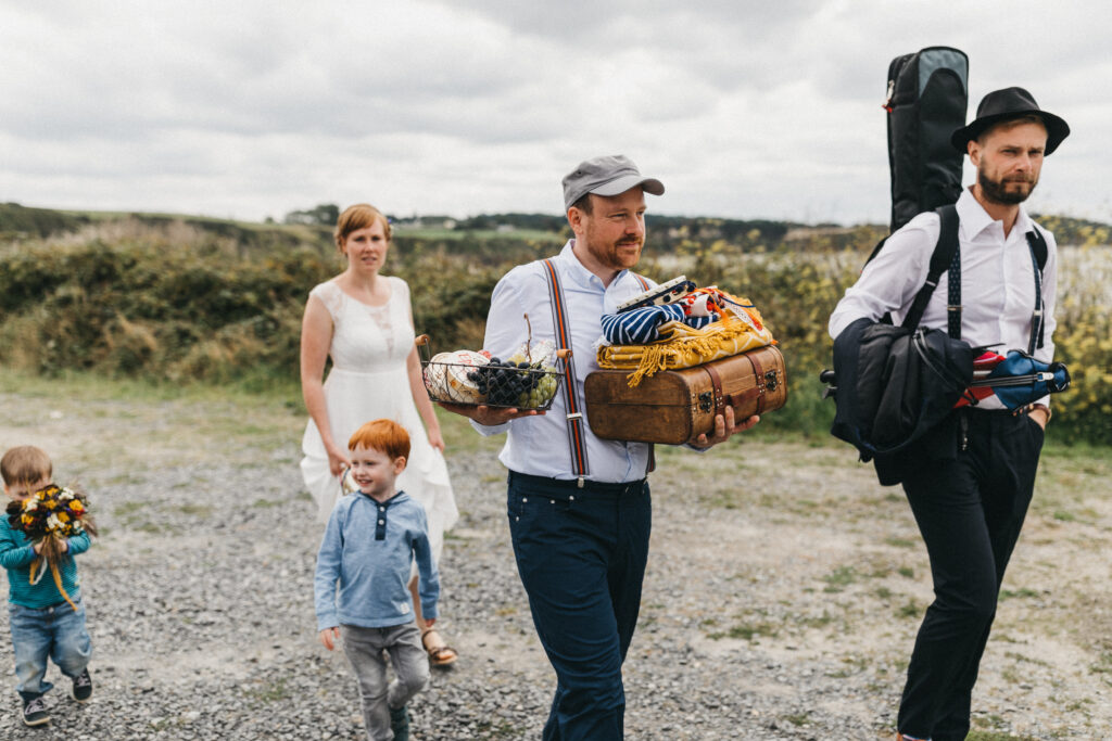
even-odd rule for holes
{"type": "MultiPolygon", "coordinates": [[[[1043,158],[1069,133],[1065,121],[1041,110],[1022,88],[989,93],[976,120],[954,132],[951,141],[970,156],[976,182],[955,204],[955,268],[939,280],[922,326],[946,329],[947,313],[957,310],[961,339],[971,346],[1003,353],[1027,349],[1042,334],[1034,354],[1053,359],[1056,247],[1022,203],[1039,182],[1043,158]]],[[[838,302],[831,337],[858,319],[890,312],[898,323],[926,280],[940,231],[931,211],[893,233],[838,302]]],[[[959,741],[969,732],[977,667],[1050,415],[1049,397],[1020,414],[990,398],[953,412],[930,445],[895,461],[930,554],[935,594],[907,667],[897,721],[902,741],[959,741]]]]}

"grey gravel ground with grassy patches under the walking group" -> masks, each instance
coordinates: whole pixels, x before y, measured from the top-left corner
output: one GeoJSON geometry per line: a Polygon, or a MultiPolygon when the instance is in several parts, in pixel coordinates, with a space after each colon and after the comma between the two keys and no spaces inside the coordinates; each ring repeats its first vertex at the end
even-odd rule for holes
{"type": "MultiPolygon", "coordinates": [[[[262,400],[116,394],[0,393],[0,447],[46,448],[103,531],[79,560],[95,701],[54,691],[52,725],[26,731],[0,611],[0,738],[365,738],[342,654],[316,641],[301,418],[262,400]]],[[[514,568],[504,472],[490,442],[453,434],[463,515],[443,629],[461,659],[414,701],[413,738],[536,739],[554,675],[514,568]]],[[[758,432],[659,459],[628,738],[891,739],[930,601],[898,491],[848,449],[758,432]]],[[[1112,738],[1109,461],[1044,465],[974,699],[976,727],[999,734],[983,739],[1112,738]]]]}

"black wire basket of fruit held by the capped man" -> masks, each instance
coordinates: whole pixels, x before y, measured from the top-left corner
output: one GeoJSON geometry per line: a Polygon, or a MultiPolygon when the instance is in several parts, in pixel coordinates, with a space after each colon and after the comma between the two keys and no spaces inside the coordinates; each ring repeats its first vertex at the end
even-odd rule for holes
{"type": "MultiPolygon", "coordinates": [[[[557,368],[515,367],[431,360],[429,339],[421,334],[415,340],[420,354],[425,390],[433,401],[464,407],[497,407],[522,411],[545,411],[559,391],[564,370],[557,368]]],[[[570,350],[559,350],[559,366],[566,369],[570,350]]],[[[497,359],[495,359],[497,360],[497,359]]]]}

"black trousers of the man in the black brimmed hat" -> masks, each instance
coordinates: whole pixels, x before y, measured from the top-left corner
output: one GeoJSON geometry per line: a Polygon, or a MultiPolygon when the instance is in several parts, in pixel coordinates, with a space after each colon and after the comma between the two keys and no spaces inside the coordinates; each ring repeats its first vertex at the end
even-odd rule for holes
{"type": "Polygon", "coordinates": [[[926,543],[934,602],[926,610],[900,703],[901,732],[961,741],[973,684],[1012,549],[1034,490],[1043,432],[1025,414],[967,410],[956,458],[903,478],[926,543]]]}

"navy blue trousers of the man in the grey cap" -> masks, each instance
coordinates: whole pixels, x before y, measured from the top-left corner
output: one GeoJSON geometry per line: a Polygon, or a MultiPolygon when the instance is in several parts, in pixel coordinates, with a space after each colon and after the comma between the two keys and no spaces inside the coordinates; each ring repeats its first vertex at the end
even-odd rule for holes
{"type": "Polygon", "coordinates": [[[618,741],[625,661],[648,559],[648,482],[597,484],[510,472],[509,531],[533,624],[556,670],[544,741],[618,741]]]}

